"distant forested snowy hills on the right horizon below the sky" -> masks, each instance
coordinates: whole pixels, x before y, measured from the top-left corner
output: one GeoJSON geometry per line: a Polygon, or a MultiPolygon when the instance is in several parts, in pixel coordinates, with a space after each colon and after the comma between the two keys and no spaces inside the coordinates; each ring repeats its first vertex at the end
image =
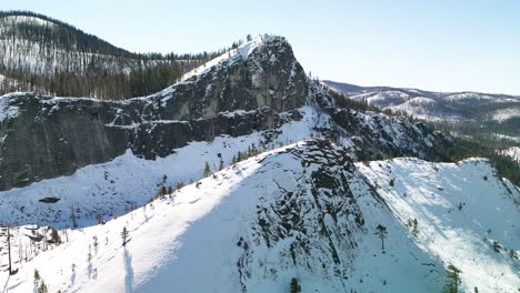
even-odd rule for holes
{"type": "Polygon", "coordinates": [[[479,92],[433,92],[392,87],[359,87],[322,81],[347,99],[413,117],[464,134],[520,138],[520,97],[479,92]]]}

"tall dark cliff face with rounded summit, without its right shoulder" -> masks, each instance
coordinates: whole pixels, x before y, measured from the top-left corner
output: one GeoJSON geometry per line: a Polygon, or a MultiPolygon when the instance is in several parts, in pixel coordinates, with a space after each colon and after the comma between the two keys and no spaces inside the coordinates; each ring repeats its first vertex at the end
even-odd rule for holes
{"type": "Polygon", "coordinates": [[[281,123],[279,112],[304,104],[307,87],[289,43],[266,37],[147,98],[2,97],[0,190],[71,174],[127,149],[154,159],[190,141],[273,128],[281,123]]]}

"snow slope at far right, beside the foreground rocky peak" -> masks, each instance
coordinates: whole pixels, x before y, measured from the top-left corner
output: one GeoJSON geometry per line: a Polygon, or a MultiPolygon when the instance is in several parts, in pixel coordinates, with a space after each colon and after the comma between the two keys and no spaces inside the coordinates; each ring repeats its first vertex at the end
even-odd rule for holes
{"type": "Polygon", "coordinates": [[[520,192],[488,161],[396,159],[357,166],[401,222],[413,230],[417,219],[413,240],[424,252],[462,271],[464,292],[520,287],[520,192]]]}

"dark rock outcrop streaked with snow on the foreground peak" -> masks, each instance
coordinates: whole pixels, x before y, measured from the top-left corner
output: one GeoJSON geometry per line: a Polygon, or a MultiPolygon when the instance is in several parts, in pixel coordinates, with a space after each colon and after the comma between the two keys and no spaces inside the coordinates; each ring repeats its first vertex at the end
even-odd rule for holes
{"type": "Polygon", "coordinates": [[[259,199],[253,229],[238,243],[244,251],[238,262],[244,287],[292,267],[347,280],[356,257],[353,235],[364,219],[349,186],[356,173],[350,156],[328,140],[308,141],[288,153],[301,165],[287,164],[289,170],[273,181],[278,189],[259,199]],[[259,270],[259,263],[264,267],[259,270]]]}

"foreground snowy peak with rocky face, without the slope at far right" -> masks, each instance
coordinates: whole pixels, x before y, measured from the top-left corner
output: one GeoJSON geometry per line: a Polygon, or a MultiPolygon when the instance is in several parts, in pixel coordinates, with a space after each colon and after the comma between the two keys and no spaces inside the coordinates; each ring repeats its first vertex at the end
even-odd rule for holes
{"type": "Polygon", "coordinates": [[[372,190],[343,149],[293,144],[68,231],[0,284],[31,292],[38,270],[49,292],[288,292],[292,277],[303,292],[439,291],[442,266],[372,190]]]}

